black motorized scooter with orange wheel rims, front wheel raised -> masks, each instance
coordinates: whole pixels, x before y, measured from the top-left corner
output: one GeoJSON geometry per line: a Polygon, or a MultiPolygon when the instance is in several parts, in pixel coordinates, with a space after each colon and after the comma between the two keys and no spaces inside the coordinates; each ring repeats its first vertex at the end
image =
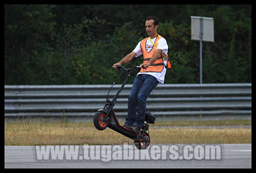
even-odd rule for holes
{"type": "Polygon", "coordinates": [[[119,121],[117,119],[117,115],[115,114],[115,112],[113,110],[113,107],[115,106],[118,96],[122,92],[124,85],[128,81],[128,78],[130,77],[130,71],[132,71],[134,68],[140,68],[140,67],[135,66],[130,69],[126,69],[123,66],[115,66],[115,67],[117,67],[119,70],[122,69],[118,78],[120,78],[122,76],[122,74],[124,74],[125,72],[127,73],[127,77],[126,77],[125,81],[123,82],[122,86],[120,87],[120,89],[118,90],[118,92],[115,94],[112,101],[109,101],[109,92],[111,91],[113,85],[118,80],[118,78],[113,82],[112,86],[109,89],[106,103],[105,103],[103,109],[99,109],[93,117],[93,124],[96,127],[96,129],[98,129],[98,130],[105,130],[107,127],[109,127],[110,129],[112,129],[130,139],[133,139],[136,148],[147,149],[147,147],[150,144],[148,127],[149,127],[149,124],[155,123],[156,117],[154,115],[152,115],[150,112],[146,112],[145,122],[143,124],[142,130],[140,133],[136,133],[136,132],[133,132],[133,131],[127,129],[126,127],[123,127],[119,123],[119,121]],[[146,131],[148,131],[148,133],[146,131]]]}

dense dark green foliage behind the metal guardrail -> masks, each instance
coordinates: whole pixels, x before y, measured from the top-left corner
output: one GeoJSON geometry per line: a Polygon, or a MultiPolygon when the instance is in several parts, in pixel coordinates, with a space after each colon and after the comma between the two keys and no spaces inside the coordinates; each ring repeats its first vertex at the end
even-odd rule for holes
{"type": "Polygon", "coordinates": [[[165,83],[199,83],[190,16],[214,18],[203,83],[251,82],[251,5],[5,5],[5,85],[110,84],[112,64],[147,37],[147,16],[159,18],[169,45],[165,83]]]}

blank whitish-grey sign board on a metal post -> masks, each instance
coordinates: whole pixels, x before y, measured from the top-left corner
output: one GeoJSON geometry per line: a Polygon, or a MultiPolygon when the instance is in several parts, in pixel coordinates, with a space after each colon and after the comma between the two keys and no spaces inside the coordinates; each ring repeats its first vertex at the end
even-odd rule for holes
{"type": "Polygon", "coordinates": [[[200,18],[203,20],[203,41],[214,42],[213,18],[191,16],[191,40],[200,40],[200,18]]]}

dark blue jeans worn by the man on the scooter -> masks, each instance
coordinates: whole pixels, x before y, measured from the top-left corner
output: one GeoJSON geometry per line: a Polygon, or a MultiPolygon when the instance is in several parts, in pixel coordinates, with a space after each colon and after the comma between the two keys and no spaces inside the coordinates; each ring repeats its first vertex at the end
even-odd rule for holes
{"type": "Polygon", "coordinates": [[[135,77],[131,93],[128,97],[128,114],[125,125],[143,127],[147,97],[158,83],[159,81],[149,74],[139,74],[135,77]]]}

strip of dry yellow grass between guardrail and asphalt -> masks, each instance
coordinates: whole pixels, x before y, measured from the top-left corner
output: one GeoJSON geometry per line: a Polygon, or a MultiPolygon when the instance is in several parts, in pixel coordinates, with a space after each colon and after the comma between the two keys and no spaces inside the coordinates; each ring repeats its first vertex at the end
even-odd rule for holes
{"type": "MultiPolygon", "coordinates": [[[[170,122],[159,124],[166,126],[166,123],[169,124],[170,122]]],[[[180,122],[180,124],[184,124],[184,122],[180,122]]],[[[176,123],[176,125],[179,124],[176,123]]],[[[189,125],[191,126],[191,124],[189,125]]],[[[214,125],[214,123],[211,123],[211,125],[214,125]]],[[[240,122],[239,125],[248,125],[248,122],[245,124],[240,122]]],[[[251,143],[251,129],[243,128],[163,128],[150,129],[149,134],[151,144],[251,143]]],[[[5,123],[5,145],[113,145],[122,144],[123,142],[134,143],[133,140],[109,128],[98,131],[93,123],[5,123]]]]}

